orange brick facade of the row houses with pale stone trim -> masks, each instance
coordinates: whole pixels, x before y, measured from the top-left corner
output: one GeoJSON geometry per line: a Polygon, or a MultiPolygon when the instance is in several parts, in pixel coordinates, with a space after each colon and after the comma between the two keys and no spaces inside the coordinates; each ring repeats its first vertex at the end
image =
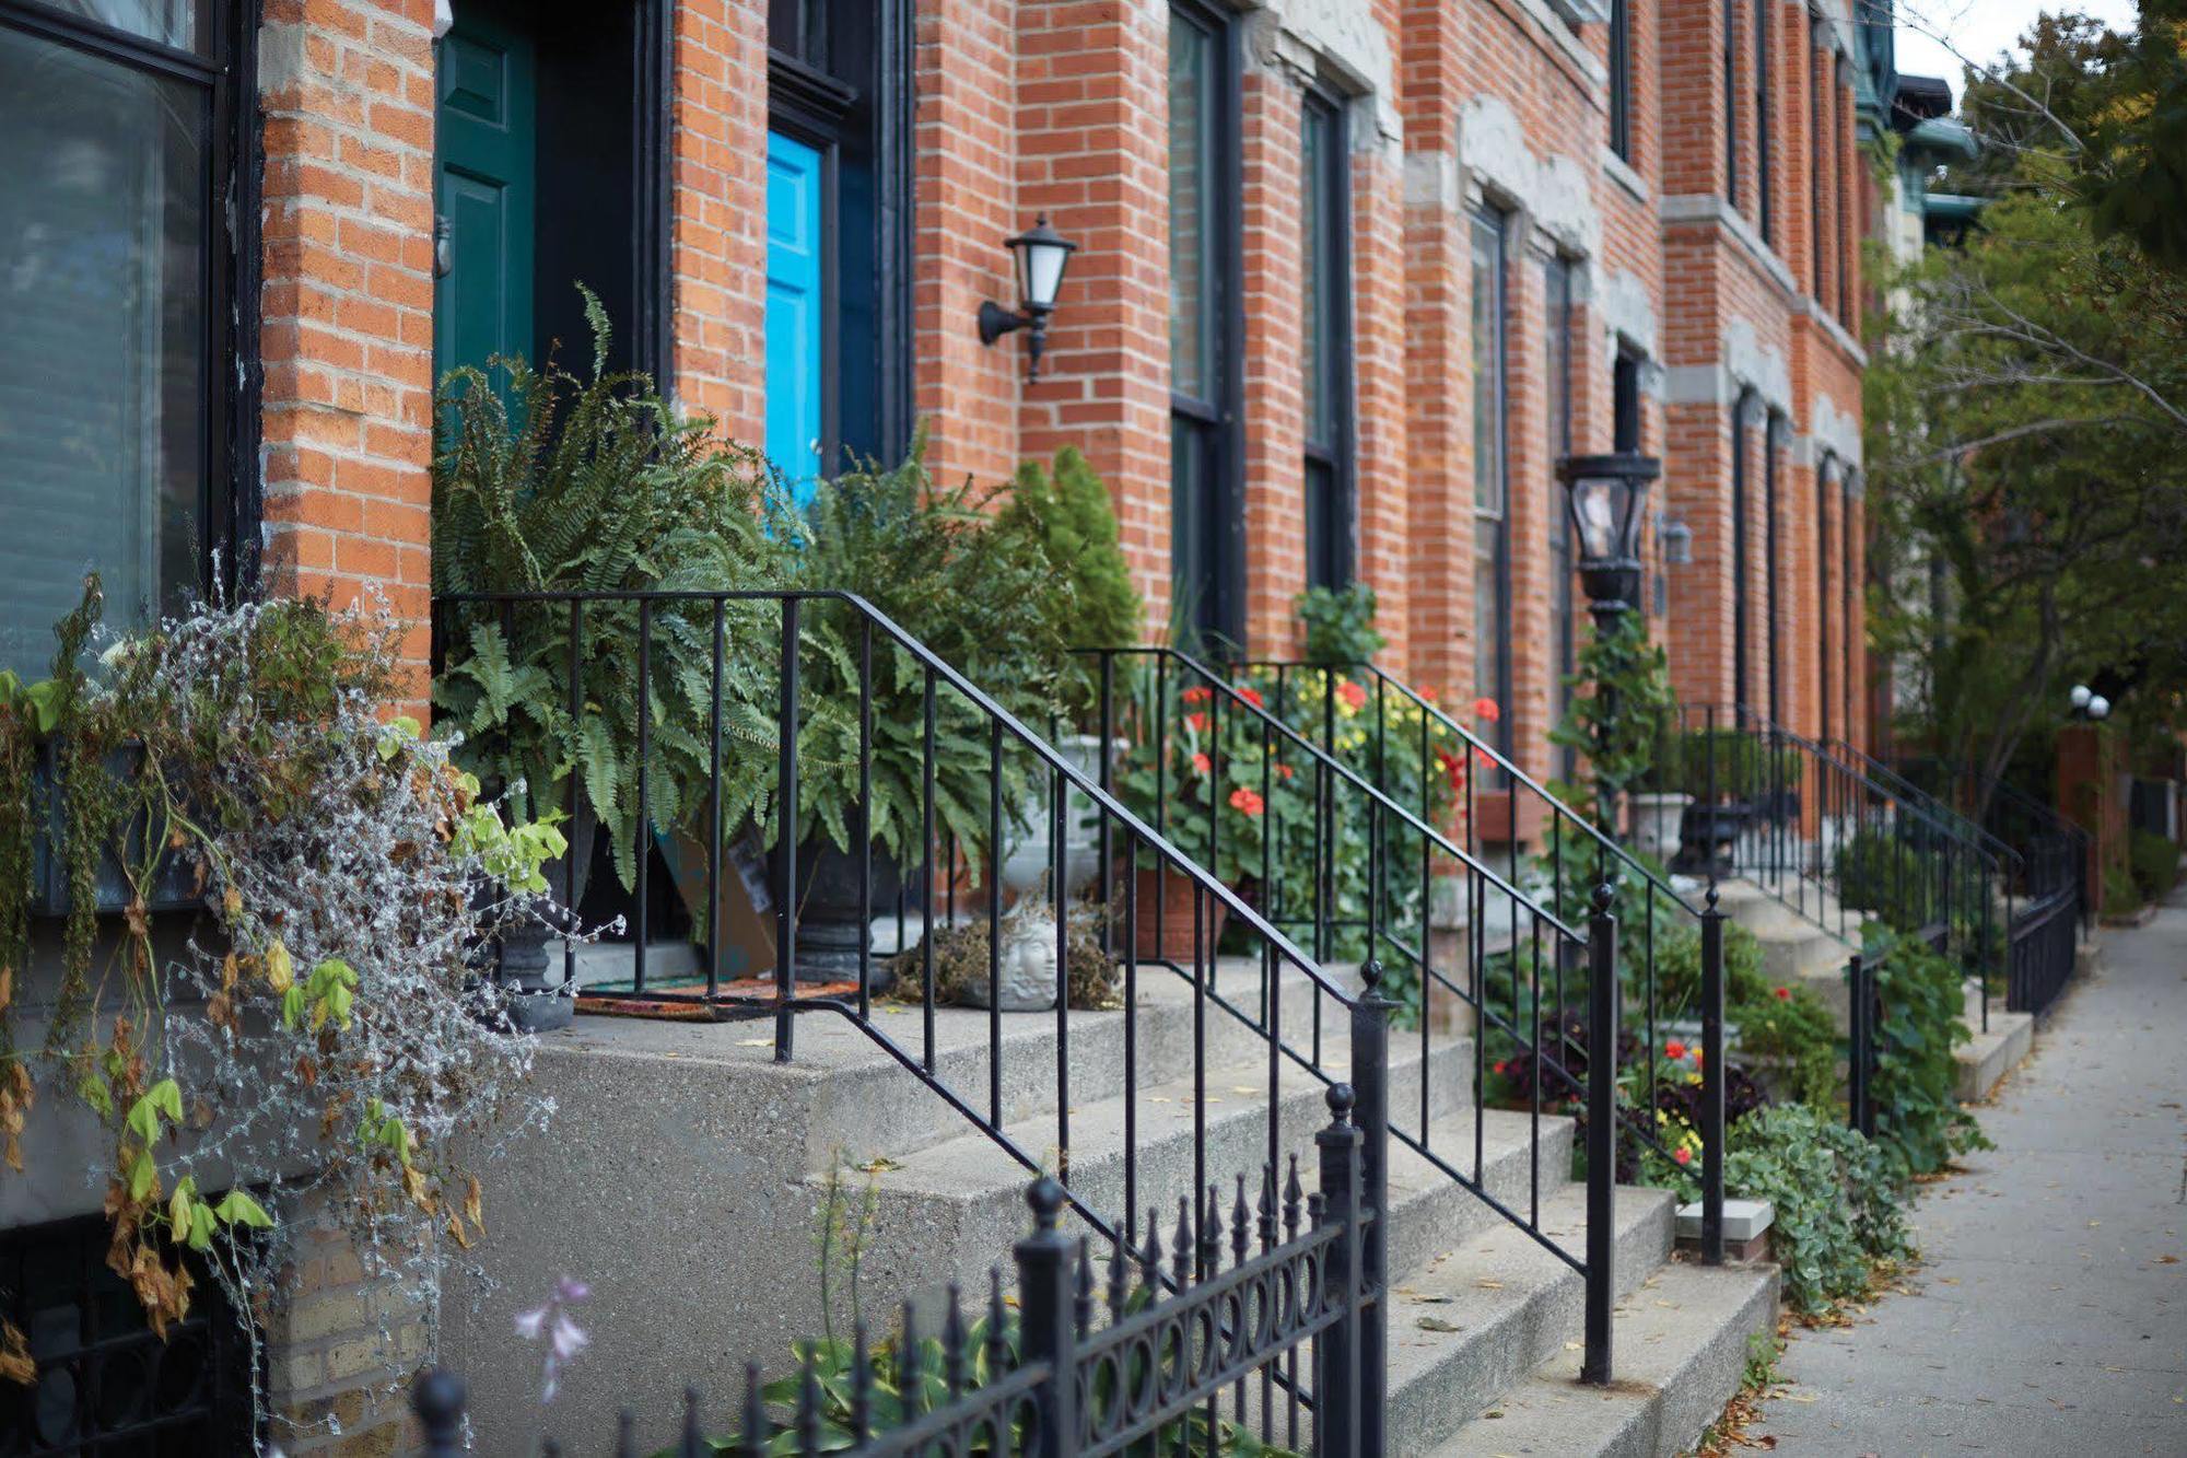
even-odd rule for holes
{"type": "MultiPolygon", "coordinates": [[[[1553,256],[1572,278],[1572,449],[1610,449],[1612,361],[1636,357],[1642,449],[1664,458],[1656,506],[1693,532],[1688,565],[1662,567],[1651,549],[1682,696],[1743,694],[1809,733],[1863,720],[1855,335],[1868,177],[1852,31],[1839,7],[1804,0],[1625,9],[1627,160],[1607,142],[1607,26],[1572,24],[1548,0],[1288,0],[1229,15],[1249,646],[1293,648],[1306,582],[1297,199],[1301,88],[1314,83],[1345,96],[1349,149],[1352,560],[1382,598],[1393,661],[1446,692],[1472,683],[1485,628],[1472,606],[1476,210],[1505,232],[1509,720],[1535,771],[1551,768],[1562,672],[1548,606],[1562,512],[1544,379],[1553,256]],[[1745,440],[1741,398],[1756,420],[1745,440]]],[[[669,387],[757,438],[770,7],[678,0],[671,15],[669,387]]],[[[1080,447],[1111,486],[1150,622],[1170,595],[1168,24],[1159,0],[912,7],[908,352],[932,464],[999,479],[1028,455],[1080,447]],[[1080,252],[1028,387],[1017,339],[982,346],[973,317],[982,300],[1010,298],[999,241],[1037,212],[1080,252]]],[[[411,615],[429,565],[431,28],[431,0],[265,0],[260,61],[267,560],[282,589],[378,582],[411,615]]]]}

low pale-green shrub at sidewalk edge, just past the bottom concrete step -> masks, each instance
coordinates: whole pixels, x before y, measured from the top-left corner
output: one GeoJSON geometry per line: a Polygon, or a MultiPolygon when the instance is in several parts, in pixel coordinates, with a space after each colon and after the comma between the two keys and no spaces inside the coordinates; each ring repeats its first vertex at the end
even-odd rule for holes
{"type": "Polygon", "coordinates": [[[1876,1261],[1909,1250],[1883,1152],[1804,1103],[1763,1108],[1732,1125],[1723,1187],[1771,1204],[1769,1237],[1793,1311],[1820,1316],[1861,1296],[1876,1261]]]}

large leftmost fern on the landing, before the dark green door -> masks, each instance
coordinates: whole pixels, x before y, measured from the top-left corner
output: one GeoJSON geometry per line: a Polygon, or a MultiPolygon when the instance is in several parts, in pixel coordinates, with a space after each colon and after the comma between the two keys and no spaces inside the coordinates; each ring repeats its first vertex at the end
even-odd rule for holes
{"type": "MultiPolygon", "coordinates": [[[[647,377],[606,372],[608,320],[590,291],[584,300],[595,346],[586,379],[551,359],[496,359],[505,390],[475,368],[442,381],[433,591],[779,587],[803,534],[765,460],[724,442],[702,416],[678,418],[647,377]]],[[[717,707],[722,823],[772,825],[779,611],[768,600],[722,604],[717,687],[715,606],[654,602],[641,694],[636,602],[584,602],[575,615],[566,602],[455,604],[442,620],[433,703],[464,733],[457,760],[505,788],[516,812],[553,814],[575,777],[628,887],[641,847],[641,698],[647,832],[693,823],[706,808],[717,707]]],[[[800,751],[840,738],[844,722],[840,707],[820,703],[803,718],[800,751]]]]}

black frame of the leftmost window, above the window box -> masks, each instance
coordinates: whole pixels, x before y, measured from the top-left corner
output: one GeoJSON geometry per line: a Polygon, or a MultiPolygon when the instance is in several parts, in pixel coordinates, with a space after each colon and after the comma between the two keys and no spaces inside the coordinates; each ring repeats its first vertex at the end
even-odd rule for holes
{"type": "Polygon", "coordinates": [[[199,462],[195,587],[206,595],[227,598],[254,598],[260,591],[258,539],[265,519],[258,473],[265,392],[258,348],[258,215],[265,180],[258,11],[260,0],[208,0],[201,9],[206,46],[195,53],[35,0],[0,0],[0,26],[116,66],[197,85],[208,99],[206,265],[199,280],[206,328],[197,348],[208,429],[199,462]]]}

